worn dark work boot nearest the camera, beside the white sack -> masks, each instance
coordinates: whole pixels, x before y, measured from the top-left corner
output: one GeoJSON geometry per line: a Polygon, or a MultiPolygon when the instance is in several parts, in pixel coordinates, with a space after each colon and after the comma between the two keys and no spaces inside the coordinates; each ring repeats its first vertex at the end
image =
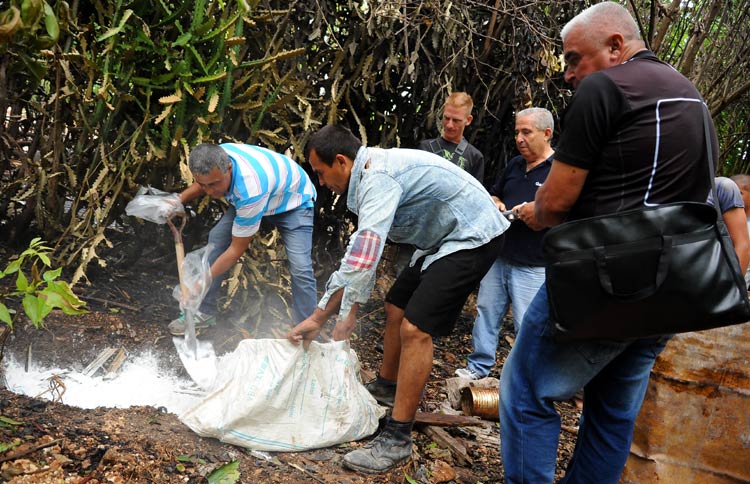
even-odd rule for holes
{"type": "Polygon", "coordinates": [[[379,474],[405,463],[411,458],[413,425],[413,421],[399,422],[388,417],[380,435],[344,456],[344,467],[366,474],[379,474]]]}

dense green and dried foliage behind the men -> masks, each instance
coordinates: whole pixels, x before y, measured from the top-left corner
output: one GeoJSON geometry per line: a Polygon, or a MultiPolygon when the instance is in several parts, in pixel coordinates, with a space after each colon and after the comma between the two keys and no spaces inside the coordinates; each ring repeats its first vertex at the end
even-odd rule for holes
{"type": "MultiPolygon", "coordinates": [[[[345,122],[369,145],[437,134],[469,92],[469,140],[489,182],[513,154],[513,112],[559,115],[559,31],[588,1],[11,0],[0,3],[0,238],[39,234],[85,279],[139,185],[180,190],[204,141],[302,161],[312,131],[345,122]]],[[[720,171],[748,170],[748,2],[630,0],[644,37],[693,79],[717,120],[720,171]]],[[[320,193],[318,229],[347,225],[320,193]]],[[[206,204],[201,204],[203,213],[206,204]]],[[[259,240],[267,252],[271,239],[259,240]]],[[[275,253],[268,257],[275,257],[275,253]]],[[[235,274],[236,275],[236,274],[235,274]]]]}

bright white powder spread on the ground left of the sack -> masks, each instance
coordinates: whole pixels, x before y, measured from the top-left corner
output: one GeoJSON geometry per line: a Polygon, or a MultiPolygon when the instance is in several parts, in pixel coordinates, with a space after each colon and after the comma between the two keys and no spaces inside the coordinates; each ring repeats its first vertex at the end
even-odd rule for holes
{"type": "Polygon", "coordinates": [[[61,402],[81,408],[150,405],[180,415],[203,396],[195,383],[160,368],[157,358],[148,353],[130,356],[117,375],[108,380],[101,376],[101,369],[95,376],[86,376],[73,370],[32,364],[26,372],[24,365],[9,355],[3,359],[3,366],[10,391],[53,400],[64,390],[61,402]],[[50,391],[58,378],[64,388],[58,386],[56,392],[50,391]]]}

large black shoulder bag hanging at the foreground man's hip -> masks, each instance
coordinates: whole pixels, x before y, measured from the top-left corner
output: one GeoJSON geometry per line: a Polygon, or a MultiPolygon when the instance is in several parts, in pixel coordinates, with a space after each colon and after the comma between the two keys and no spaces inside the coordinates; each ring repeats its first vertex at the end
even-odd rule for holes
{"type": "Polygon", "coordinates": [[[717,208],[706,203],[565,223],[545,235],[544,256],[550,322],[561,341],[640,338],[750,319],[732,242],[717,208]]]}

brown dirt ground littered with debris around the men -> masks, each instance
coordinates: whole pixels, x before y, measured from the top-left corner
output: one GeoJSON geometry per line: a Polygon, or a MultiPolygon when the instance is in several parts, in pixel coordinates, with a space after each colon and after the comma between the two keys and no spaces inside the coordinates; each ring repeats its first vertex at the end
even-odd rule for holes
{"type": "MultiPolygon", "coordinates": [[[[7,261],[10,252],[4,250],[0,259],[7,261]]],[[[5,355],[13,354],[22,360],[31,345],[37,360],[63,368],[83,368],[103,348],[122,347],[127,354],[151,349],[165,364],[180,367],[172,338],[166,331],[168,321],[177,314],[171,296],[177,283],[174,267],[174,258],[168,252],[154,250],[135,263],[113,261],[107,268],[90,271],[90,285],[77,288],[90,313],[75,317],[53,312],[41,330],[21,321],[6,340],[5,355]]],[[[318,269],[324,273],[319,281],[322,285],[332,268],[318,269]]],[[[373,375],[381,358],[374,342],[381,339],[384,327],[383,288],[390,277],[391,274],[382,272],[378,289],[360,312],[351,342],[363,368],[373,375]]],[[[453,376],[456,368],[464,366],[471,351],[473,302],[470,300],[464,309],[452,336],[435,340],[434,368],[421,403],[423,412],[439,412],[444,406],[445,380],[453,376]]],[[[277,337],[284,330],[278,324],[273,327],[276,329],[269,326],[250,331],[241,317],[225,314],[217,326],[204,330],[200,339],[212,341],[221,353],[233,350],[250,334],[277,337]]],[[[508,341],[501,338],[498,365],[490,376],[499,377],[509,350],[508,341]]],[[[559,410],[565,429],[561,433],[558,458],[558,475],[561,475],[573,449],[580,413],[573,403],[562,403],[559,410]]],[[[176,415],[157,408],[86,410],[44,397],[17,395],[3,384],[0,386],[0,482],[200,483],[209,482],[207,476],[214,469],[233,461],[239,463],[240,477],[225,482],[503,482],[497,422],[488,421],[481,427],[481,433],[476,428],[461,426],[443,429],[454,442],[465,447],[465,456],[444,449],[444,444],[428,437],[425,430],[415,430],[411,462],[392,472],[370,476],[348,471],[341,465],[344,454],[369,439],[308,452],[258,454],[202,438],[176,415]]]]}

